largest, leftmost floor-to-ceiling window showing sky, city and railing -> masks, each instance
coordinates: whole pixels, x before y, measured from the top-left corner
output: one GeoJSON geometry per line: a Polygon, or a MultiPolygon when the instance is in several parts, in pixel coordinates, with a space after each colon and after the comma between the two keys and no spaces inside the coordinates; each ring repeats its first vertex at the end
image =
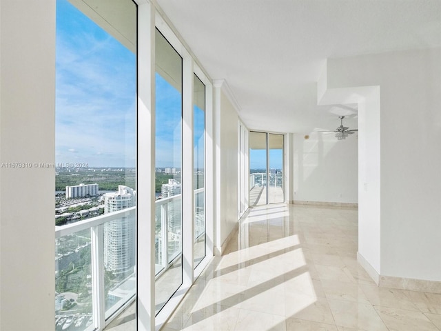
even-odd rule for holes
{"type": "Polygon", "coordinates": [[[101,5],[123,32],[57,0],[56,330],[102,329],[136,294],[136,5],[101,5]]]}

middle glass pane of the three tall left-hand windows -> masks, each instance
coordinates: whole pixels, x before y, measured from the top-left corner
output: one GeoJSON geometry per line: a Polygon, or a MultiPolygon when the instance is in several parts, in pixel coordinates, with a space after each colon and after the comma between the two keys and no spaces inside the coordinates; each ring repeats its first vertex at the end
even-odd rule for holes
{"type": "Polygon", "coordinates": [[[182,58],[156,30],[156,313],[182,284],[182,58]]]}

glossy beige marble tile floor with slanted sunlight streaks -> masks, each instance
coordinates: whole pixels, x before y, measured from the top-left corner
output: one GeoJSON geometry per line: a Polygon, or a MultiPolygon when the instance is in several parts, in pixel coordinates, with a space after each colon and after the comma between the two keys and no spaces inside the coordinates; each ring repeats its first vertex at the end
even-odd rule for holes
{"type": "MultiPolygon", "coordinates": [[[[378,288],[358,265],[357,218],[351,208],[253,208],[161,330],[440,331],[441,294],[378,288]]],[[[135,330],[120,326],[110,330],[135,330]]]]}

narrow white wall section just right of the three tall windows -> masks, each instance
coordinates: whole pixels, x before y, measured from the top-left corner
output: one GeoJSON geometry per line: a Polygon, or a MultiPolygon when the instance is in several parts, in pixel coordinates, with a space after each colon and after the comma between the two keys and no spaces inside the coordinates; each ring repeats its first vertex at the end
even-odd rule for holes
{"type": "Polygon", "coordinates": [[[216,131],[216,249],[238,223],[238,114],[225,94],[225,83],[214,86],[216,131]]]}

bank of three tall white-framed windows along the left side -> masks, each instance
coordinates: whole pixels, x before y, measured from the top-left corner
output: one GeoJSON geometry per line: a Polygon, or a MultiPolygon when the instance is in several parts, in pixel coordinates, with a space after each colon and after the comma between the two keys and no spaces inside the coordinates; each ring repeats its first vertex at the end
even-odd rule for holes
{"type": "MultiPolygon", "coordinates": [[[[56,205],[56,329],[103,330],[136,299],[136,283],[141,305],[140,283],[152,286],[143,292],[149,300],[154,297],[152,314],[150,310],[147,314],[163,323],[176,297],[188,290],[212,256],[213,217],[207,217],[213,214],[214,201],[212,85],[156,13],[152,22],[157,30],[154,37],[150,34],[155,61],[149,63],[156,70],[150,77],[140,69],[146,62],[139,61],[139,81],[150,80],[152,85],[142,92],[141,87],[136,90],[136,52],[141,54],[136,49],[140,44],[136,11],[150,6],[154,12],[151,3],[137,7],[132,0],[96,0],[91,8],[84,1],[73,1],[77,7],[68,0],[57,1],[60,10],[74,12],[72,19],[57,13],[57,167],[66,168],[57,169],[57,188],[62,186],[63,199],[58,192],[62,203],[68,199],[77,203],[65,208],[57,200],[56,205]],[[140,95],[152,91],[154,104],[149,103],[147,110],[154,121],[144,120],[140,126],[148,99],[140,95]],[[137,112],[136,106],[142,111],[137,112]],[[152,126],[155,142],[151,147],[139,139],[148,126],[152,126]],[[143,161],[145,154],[154,158],[154,164],[143,161]],[[143,174],[151,170],[151,179],[154,174],[152,187],[150,183],[137,187],[141,168],[143,174]],[[150,190],[156,197],[141,199],[150,190]],[[188,203],[183,204],[183,196],[188,203]],[[141,199],[139,208],[137,199],[141,199]],[[150,203],[156,211],[151,218],[145,208],[150,203]],[[141,223],[154,228],[151,239],[139,230],[141,223]],[[144,244],[138,259],[135,234],[144,244]],[[185,250],[183,243],[187,243],[185,250]],[[146,280],[144,269],[144,277],[137,280],[136,270],[141,274],[139,266],[150,252],[154,262],[148,264],[154,267],[154,279],[146,280]],[[183,260],[189,268],[183,267],[183,260]]],[[[141,324],[148,330],[144,321],[141,324]]]]}

